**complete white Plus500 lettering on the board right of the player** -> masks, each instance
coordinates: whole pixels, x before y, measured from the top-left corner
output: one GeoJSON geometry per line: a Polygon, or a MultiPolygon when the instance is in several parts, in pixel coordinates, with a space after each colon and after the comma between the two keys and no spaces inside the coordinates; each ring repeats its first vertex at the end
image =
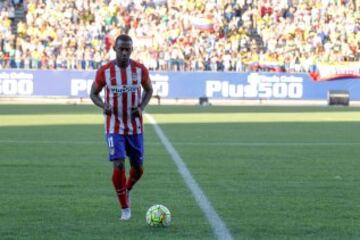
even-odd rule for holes
{"type": "Polygon", "coordinates": [[[252,73],[248,84],[230,84],[228,81],[206,82],[207,97],[225,98],[291,98],[303,96],[303,79],[294,76],[267,76],[252,73]]]}

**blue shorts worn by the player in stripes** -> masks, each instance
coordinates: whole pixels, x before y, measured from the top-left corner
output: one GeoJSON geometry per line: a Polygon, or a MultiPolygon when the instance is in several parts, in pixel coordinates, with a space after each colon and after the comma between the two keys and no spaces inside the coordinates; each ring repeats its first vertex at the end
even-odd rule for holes
{"type": "Polygon", "coordinates": [[[109,160],[130,159],[132,166],[142,166],[144,161],[144,139],[142,134],[106,134],[109,160]]]}

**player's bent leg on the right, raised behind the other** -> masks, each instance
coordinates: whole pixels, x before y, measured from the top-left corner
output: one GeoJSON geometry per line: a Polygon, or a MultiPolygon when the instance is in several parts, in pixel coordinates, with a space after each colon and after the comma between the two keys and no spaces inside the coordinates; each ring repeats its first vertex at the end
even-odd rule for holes
{"type": "Polygon", "coordinates": [[[130,191],[135,183],[139,181],[143,175],[144,161],[144,140],[142,134],[136,134],[126,137],[126,152],[130,158],[130,171],[127,181],[127,189],[130,191]]]}

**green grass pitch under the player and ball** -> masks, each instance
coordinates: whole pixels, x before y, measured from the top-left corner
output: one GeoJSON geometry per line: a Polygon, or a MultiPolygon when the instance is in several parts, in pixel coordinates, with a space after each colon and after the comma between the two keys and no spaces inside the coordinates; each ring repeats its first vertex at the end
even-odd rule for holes
{"type": "MultiPolygon", "coordinates": [[[[360,239],[360,111],[149,106],[234,239],[360,239]]],[[[119,221],[102,116],[88,105],[0,105],[0,239],[215,239],[145,122],[133,218],[119,221]],[[172,213],[151,228],[154,204],[172,213]]]]}

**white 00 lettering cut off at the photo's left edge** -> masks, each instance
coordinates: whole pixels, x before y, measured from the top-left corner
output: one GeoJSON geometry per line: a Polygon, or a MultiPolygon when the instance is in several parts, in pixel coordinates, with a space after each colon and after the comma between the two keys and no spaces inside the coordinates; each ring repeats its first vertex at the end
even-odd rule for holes
{"type": "Polygon", "coordinates": [[[0,95],[30,96],[33,94],[33,92],[34,92],[34,83],[32,80],[0,79],[0,95]]]}

